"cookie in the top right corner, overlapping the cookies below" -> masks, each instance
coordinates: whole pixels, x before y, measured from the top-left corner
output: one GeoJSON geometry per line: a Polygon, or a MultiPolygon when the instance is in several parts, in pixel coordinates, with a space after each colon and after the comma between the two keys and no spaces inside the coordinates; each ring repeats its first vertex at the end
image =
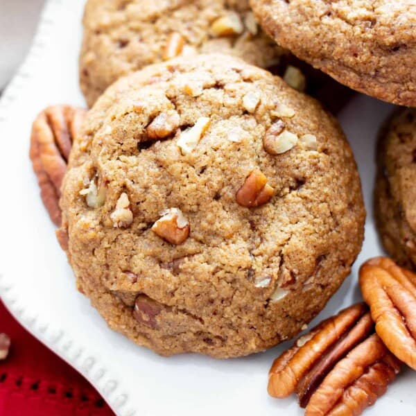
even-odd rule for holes
{"type": "Polygon", "coordinates": [[[298,58],[360,92],[416,106],[414,0],[250,0],[298,58]]]}

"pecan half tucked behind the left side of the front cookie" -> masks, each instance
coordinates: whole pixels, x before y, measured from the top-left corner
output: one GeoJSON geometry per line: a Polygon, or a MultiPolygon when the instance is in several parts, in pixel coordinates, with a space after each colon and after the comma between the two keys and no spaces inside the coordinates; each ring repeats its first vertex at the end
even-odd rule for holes
{"type": "Polygon", "coordinates": [[[53,105],[35,119],[30,157],[40,186],[40,196],[55,225],[61,223],[60,187],[73,139],[80,132],[86,110],[71,105],[53,105]]]}

